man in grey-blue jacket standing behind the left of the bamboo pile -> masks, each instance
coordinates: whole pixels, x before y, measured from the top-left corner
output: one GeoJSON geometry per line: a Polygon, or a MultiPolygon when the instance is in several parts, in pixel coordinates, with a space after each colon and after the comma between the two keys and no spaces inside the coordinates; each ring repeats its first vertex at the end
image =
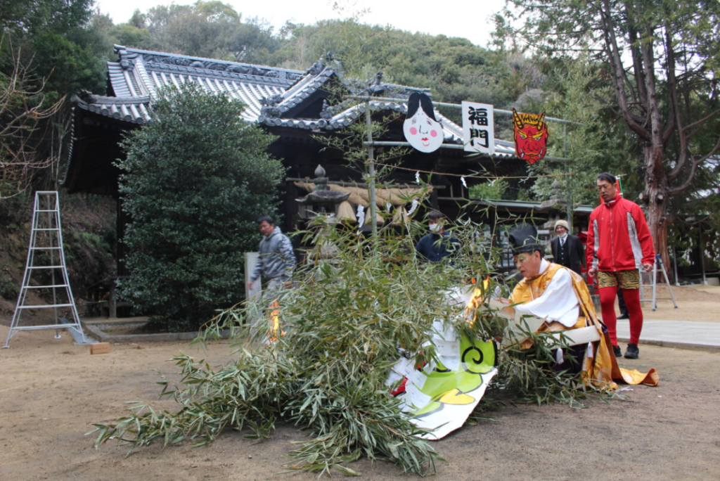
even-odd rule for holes
{"type": "Polygon", "coordinates": [[[266,288],[280,287],[289,282],[295,268],[292,243],[279,227],[275,227],[275,220],[268,215],[258,219],[258,228],[263,235],[260,240],[260,257],[248,281],[248,289],[253,288],[253,284],[261,275],[266,288]]]}

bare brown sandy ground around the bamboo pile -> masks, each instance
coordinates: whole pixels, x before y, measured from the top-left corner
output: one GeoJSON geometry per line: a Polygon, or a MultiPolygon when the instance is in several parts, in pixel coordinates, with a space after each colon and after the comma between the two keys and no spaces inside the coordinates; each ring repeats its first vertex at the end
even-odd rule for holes
{"type": "MultiPolygon", "coordinates": [[[[680,289],[677,320],[714,319],[720,288],[680,289]],[[693,297],[696,296],[697,298],[693,297]],[[693,300],[694,299],[694,300],[693,300]],[[708,303],[706,311],[698,303],[708,303]],[[692,305],[693,307],[690,307],[692,305]],[[692,313],[692,316],[688,313],[692,313]]],[[[0,338],[9,318],[0,316],[0,338]]],[[[157,399],[155,369],[174,373],[167,360],[184,351],[220,364],[227,343],[207,353],[187,343],[114,345],[89,354],[53,331],[18,333],[0,351],[0,480],[314,480],[284,475],[293,441],[305,435],[279,426],[269,441],[228,431],[210,446],[150,446],[125,458],[126,447],[96,450],[84,436],[89,423],[123,415],[125,401],[157,399]]],[[[720,354],[643,346],[642,359],[621,365],[660,372],[660,386],[633,387],[624,400],[593,400],[586,409],[518,405],[491,413],[492,421],[465,426],[434,446],[448,463],[443,480],[717,480],[720,465],[720,354]]],[[[163,405],[163,403],[158,403],[163,405]]],[[[356,462],[366,480],[415,478],[387,462],[356,462]]]]}

